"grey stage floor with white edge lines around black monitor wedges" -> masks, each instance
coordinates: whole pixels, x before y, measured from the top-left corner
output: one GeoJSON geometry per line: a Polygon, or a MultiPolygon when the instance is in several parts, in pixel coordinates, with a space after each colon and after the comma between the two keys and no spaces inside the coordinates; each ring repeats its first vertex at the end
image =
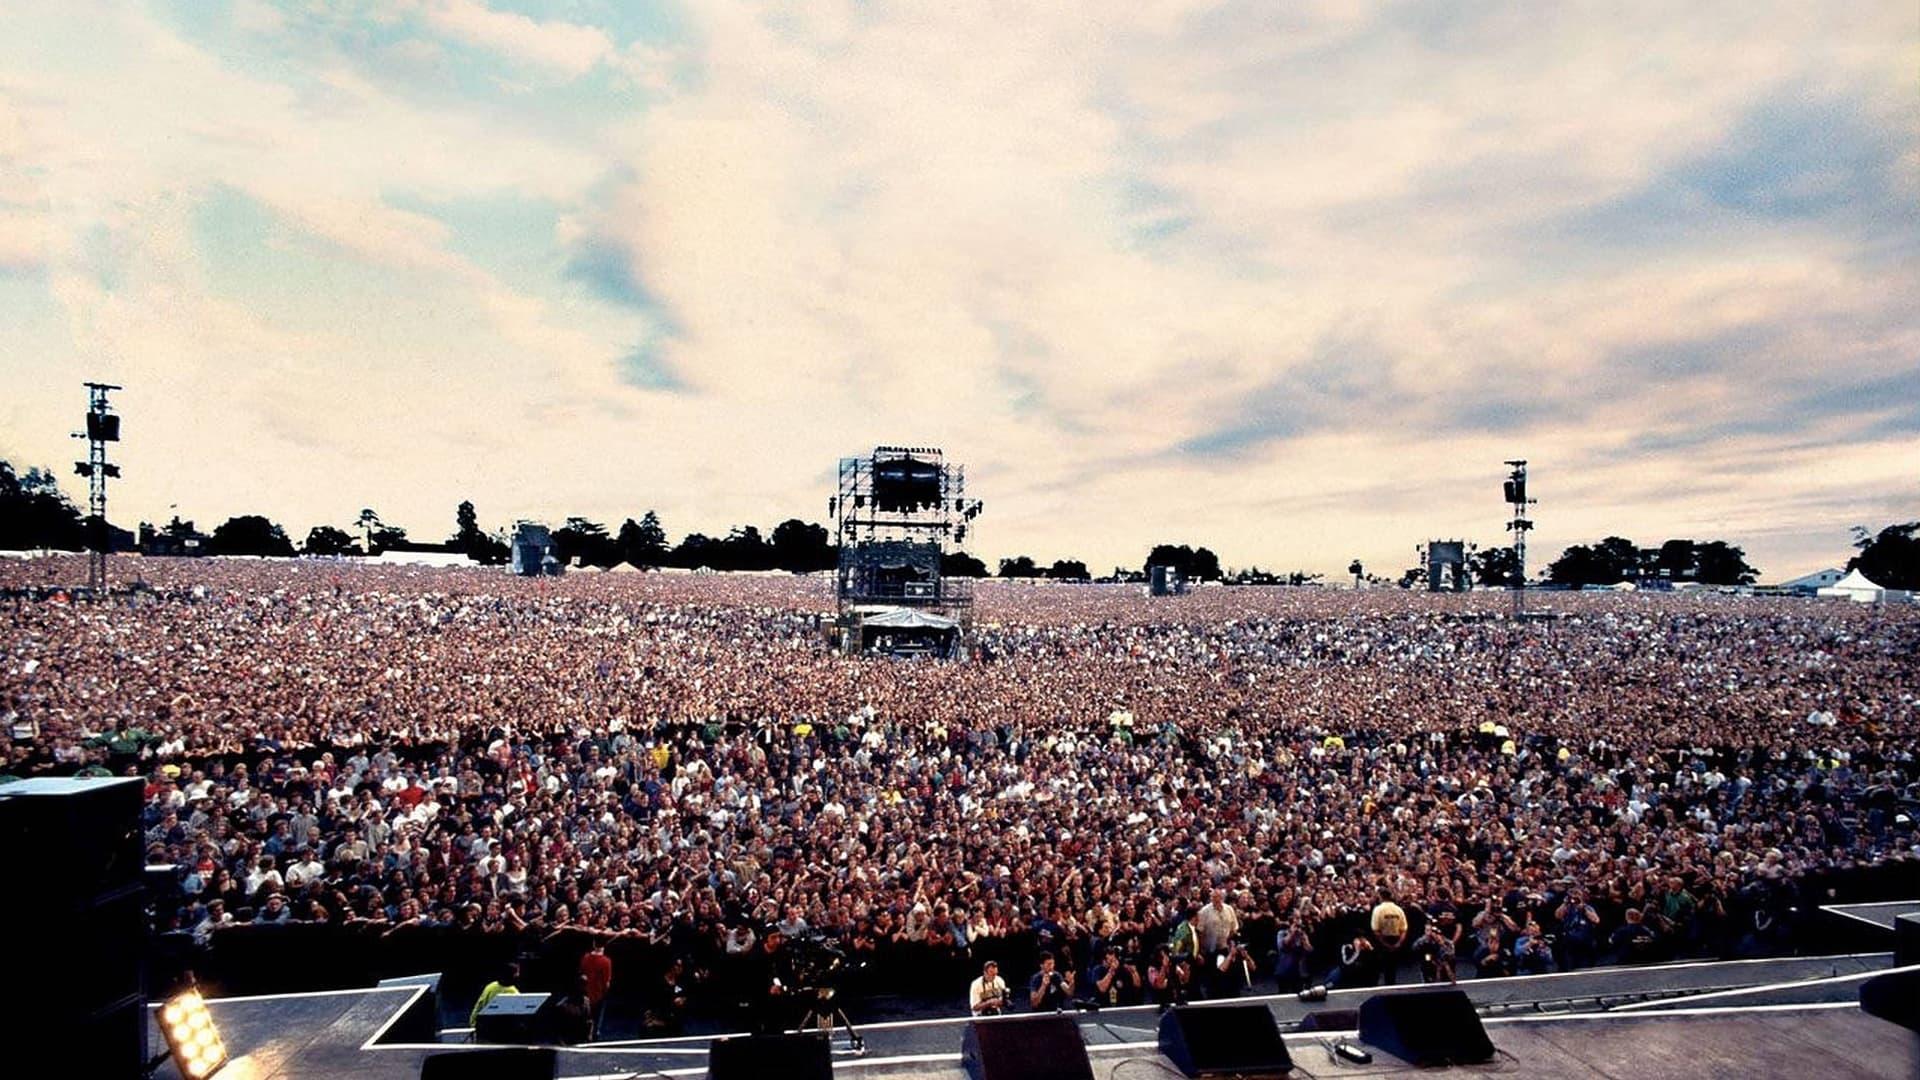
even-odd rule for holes
{"type": "MultiPolygon", "coordinates": [[[[1500,1057],[1453,1072],[1501,1076],[1903,1076],[1920,1074],[1920,1040],[1864,1015],[1864,978],[1891,969],[1889,953],[1778,961],[1682,963],[1603,969],[1459,984],[1480,1011],[1500,1057]]],[[[1267,1005],[1294,1057],[1296,1076],[1384,1076],[1411,1072],[1388,1055],[1352,1067],[1329,1055],[1336,1034],[1298,1032],[1309,1011],[1357,1009],[1382,992],[1336,990],[1325,1003],[1292,995],[1242,997],[1267,1005]]],[[[230,1080],[359,1076],[413,1080],[430,1053],[478,1049],[467,1042],[382,1042],[428,990],[420,986],[334,990],[209,1001],[232,1053],[230,1080]]],[[[1152,1007],[1075,1017],[1094,1076],[1121,1080],[1169,1074],[1156,1051],[1152,1007]]],[[[866,1053],[833,1038],[837,1076],[960,1080],[966,1017],[866,1024],[866,1053]]],[[[156,1032],[157,1045],[157,1032],[156,1032]]],[[[444,1032],[442,1040],[465,1040],[444,1032]]],[[[712,1036],[591,1043],[559,1049],[559,1076],[705,1076],[712,1036]]],[[[171,1065],[161,1076],[177,1076],[171,1065]]]]}

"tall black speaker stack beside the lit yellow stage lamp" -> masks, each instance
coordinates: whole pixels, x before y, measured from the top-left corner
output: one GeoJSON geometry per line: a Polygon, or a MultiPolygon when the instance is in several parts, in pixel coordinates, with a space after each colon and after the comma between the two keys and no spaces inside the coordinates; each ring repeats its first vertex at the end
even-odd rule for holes
{"type": "Polygon", "coordinates": [[[146,1068],[144,794],[131,776],[0,786],[0,851],[15,874],[0,924],[17,930],[8,969],[23,990],[8,1028],[73,1076],[146,1068]]]}

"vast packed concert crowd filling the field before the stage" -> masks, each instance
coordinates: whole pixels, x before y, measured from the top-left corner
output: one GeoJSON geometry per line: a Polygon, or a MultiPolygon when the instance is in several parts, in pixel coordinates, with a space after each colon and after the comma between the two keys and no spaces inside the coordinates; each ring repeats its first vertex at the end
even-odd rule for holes
{"type": "Polygon", "coordinates": [[[643,942],[660,1026],[806,951],[956,1009],[1763,955],[1916,849],[1916,609],[985,582],[931,663],[820,578],[54,573],[0,565],[0,771],[142,776],[167,928],[643,942]]]}

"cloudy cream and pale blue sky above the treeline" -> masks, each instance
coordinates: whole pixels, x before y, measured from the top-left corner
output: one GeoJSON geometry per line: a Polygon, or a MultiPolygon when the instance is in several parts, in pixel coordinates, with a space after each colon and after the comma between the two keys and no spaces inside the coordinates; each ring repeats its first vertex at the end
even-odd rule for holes
{"type": "Polygon", "coordinates": [[[10,2],[0,457],[111,517],[1398,575],[1920,519],[1920,6],[10,2]]]}

